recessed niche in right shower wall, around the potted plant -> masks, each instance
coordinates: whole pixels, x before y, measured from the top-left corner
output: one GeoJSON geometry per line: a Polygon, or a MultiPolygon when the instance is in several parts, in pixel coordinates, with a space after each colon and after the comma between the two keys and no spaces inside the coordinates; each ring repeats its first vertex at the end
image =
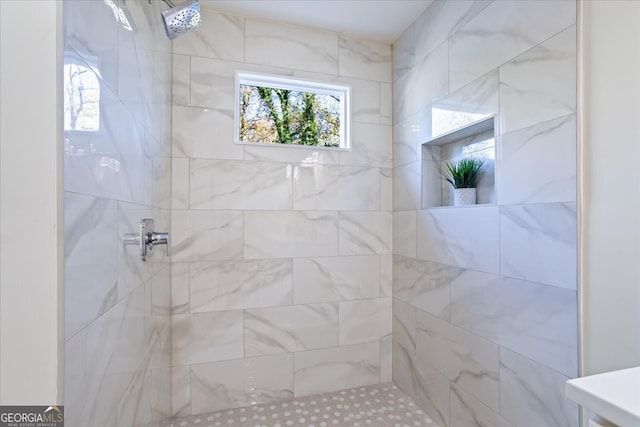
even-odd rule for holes
{"type": "Polygon", "coordinates": [[[447,163],[464,158],[484,162],[476,189],[477,203],[495,204],[495,116],[490,116],[422,144],[422,208],[453,207],[453,187],[442,179],[447,163]]]}

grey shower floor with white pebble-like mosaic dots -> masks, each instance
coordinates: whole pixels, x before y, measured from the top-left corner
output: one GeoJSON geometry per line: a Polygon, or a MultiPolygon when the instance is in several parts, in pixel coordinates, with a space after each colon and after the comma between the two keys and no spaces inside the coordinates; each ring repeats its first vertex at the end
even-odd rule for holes
{"type": "Polygon", "coordinates": [[[395,384],[174,419],[170,427],[438,427],[395,384]]]}

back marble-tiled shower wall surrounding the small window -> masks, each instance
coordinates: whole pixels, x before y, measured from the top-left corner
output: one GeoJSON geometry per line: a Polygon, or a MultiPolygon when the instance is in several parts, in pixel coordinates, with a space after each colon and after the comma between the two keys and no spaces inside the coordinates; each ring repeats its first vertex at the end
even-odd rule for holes
{"type": "Polygon", "coordinates": [[[211,10],[174,42],[174,415],[391,380],[391,89],[377,42],[211,10]],[[236,70],[350,85],[351,151],[235,144],[236,70]]]}

